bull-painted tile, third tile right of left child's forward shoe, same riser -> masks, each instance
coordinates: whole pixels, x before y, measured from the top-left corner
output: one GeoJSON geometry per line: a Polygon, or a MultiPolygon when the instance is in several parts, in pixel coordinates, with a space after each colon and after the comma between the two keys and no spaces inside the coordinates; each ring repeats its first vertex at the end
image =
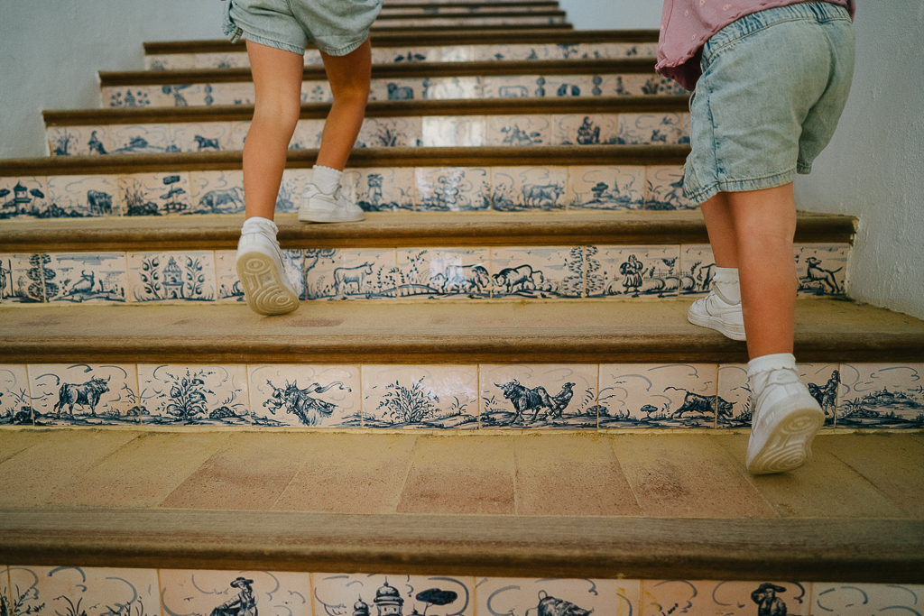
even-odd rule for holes
{"type": "Polygon", "coordinates": [[[494,167],[492,210],[564,210],[567,179],[566,167],[494,167]]]}

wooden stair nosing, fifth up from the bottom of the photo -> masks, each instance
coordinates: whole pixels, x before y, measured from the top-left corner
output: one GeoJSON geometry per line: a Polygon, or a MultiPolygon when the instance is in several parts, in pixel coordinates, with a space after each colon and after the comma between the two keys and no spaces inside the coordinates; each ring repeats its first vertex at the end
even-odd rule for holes
{"type": "MultiPolygon", "coordinates": [[[[366,106],[366,117],[686,113],[688,107],[689,96],[687,94],[679,96],[477,99],[474,101],[370,101],[366,106]]],[[[331,103],[302,103],[299,117],[303,120],[325,118],[330,109],[331,103]]],[[[42,116],[46,127],[168,122],[245,122],[253,117],[253,105],[45,110],[42,116]]]]}

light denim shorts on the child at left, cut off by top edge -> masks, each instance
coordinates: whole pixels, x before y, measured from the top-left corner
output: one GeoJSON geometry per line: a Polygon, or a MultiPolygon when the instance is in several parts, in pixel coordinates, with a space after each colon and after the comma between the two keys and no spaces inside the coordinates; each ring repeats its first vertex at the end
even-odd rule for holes
{"type": "Polygon", "coordinates": [[[304,54],[346,55],[369,38],[382,0],[226,0],[225,36],[304,54]]]}

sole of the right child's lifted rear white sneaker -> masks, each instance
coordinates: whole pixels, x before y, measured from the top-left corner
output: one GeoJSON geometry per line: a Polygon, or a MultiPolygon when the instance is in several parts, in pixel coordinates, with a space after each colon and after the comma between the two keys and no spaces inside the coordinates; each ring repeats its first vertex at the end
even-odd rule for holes
{"type": "Polygon", "coordinates": [[[816,409],[791,412],[772,429],[760,450],[748,455],[748,473],[785,473],[806,464],[811,458],[811,441],[823,423],[824,415],[816,409]]]}

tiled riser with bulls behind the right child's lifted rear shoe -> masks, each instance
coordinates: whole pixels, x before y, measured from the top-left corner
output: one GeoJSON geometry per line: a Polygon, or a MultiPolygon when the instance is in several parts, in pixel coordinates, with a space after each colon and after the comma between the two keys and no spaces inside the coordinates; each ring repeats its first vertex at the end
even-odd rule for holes
{"type": "MultiPolygon", "coordinates": [[[[826,429],[924,429],[924,364],[799,364],[826,429]]],[[[748,429],[747,366],[0,365],[0,425],[748,429]],[[517,414],[529,394],[541,405],[517,414]],[[718,417],[716,417],[718,408],[718,417]]]]}

